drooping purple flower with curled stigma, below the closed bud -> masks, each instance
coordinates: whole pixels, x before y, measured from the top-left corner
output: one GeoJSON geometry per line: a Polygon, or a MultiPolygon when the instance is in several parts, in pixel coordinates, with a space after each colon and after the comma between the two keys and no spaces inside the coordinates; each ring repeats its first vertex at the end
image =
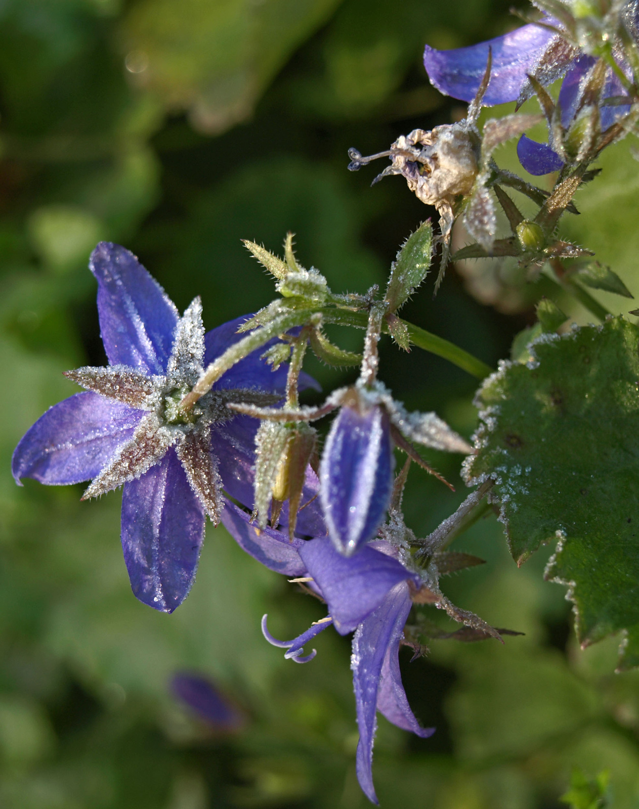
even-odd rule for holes
{"type": "Polygon", "coordinates": [[[368,799],[377,803],[372,773],[377,711],[394,725],[423,738],[435,732],[417,722],[399,671],[399,643],[411,611],[408,582],[419,588],[419,575],[407,570],[398,560],[397,550],[383,540],[370,542],[354,556],[344,557],[329,539],[296,539],[291,544],[283,532],[268,527],[260,530],[237,507],[224,510],[222,519],[242,548],[262,564],[303,578],[326,601],[326,619],[290,641],[273,637],[263,617],[266,640],[286,649],[287,659],[296,663],[312,660],[316,651],[305,653],[305,646],[331,625],[343,635],[355,631],[351,669],[360,729],[357,777],[368,799]]]}

